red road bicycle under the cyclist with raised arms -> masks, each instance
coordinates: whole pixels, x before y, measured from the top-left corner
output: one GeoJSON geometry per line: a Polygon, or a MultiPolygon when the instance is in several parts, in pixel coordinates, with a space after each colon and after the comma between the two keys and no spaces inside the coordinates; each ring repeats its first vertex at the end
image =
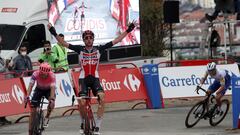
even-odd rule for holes
{"type": "Polygon", "coordinates": [[[97,99],[99,100],[99,97],[93,97],[90,95],[90,90],[88,90],[88,96],[82,96],[82,97],[72,97],[72,105],[74,104],[75,99],[85,99],[85,105],[84,105],[84,125],[83,125],[83,131],[85,135],[94,135],[93,131],[96,127],[96,122],[93,116],[93,111],[91,107],[91,99],[97,99]]]}

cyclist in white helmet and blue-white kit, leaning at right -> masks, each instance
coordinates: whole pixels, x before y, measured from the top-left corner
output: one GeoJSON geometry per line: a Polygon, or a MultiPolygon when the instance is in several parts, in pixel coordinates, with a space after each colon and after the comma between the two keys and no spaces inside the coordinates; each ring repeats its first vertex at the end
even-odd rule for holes
{"type": "Polygon", "coordinates": [[[216,68],[216,63],[211,62],[207,64],[207,71],[204,77],[201,79],[200,85],[202,85],[207,79],[208,75],[215,79],[214,82],[209,86],[207,93],[212,94],[216,92],[216,101],[218,109],[221,107],[221,98],[226,93],[227,89],[231,85],[231,77],[227,70],[221,70],[216,68]]]}

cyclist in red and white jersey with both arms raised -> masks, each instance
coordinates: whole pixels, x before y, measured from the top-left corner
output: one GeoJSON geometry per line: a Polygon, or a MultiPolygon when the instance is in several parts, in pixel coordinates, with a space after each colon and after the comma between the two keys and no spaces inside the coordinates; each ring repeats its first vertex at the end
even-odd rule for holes
{"type": "MultiPolygon", "coordinates": [[[[74,50],[79,54],[79,60],[81,65],[81,71],[79,76],[79,96],[87,96],[88,93],[88,87],[92,89],[92,92],[94,96],[99,96],[99,104],[98,104],[98,110],[97,110],[97,118],[96,118],[96,128],[94,130],[94,134],[100,134],[99,129],[100,125],[103,119],[104,114],[104,91],[103,88],[100,85],[99,81],[99,73],[98,73],[98,66],[99,66],[99,60],[100,55],[108,48],[112,47],[113,45],[119,43],[125,36],[128,35],[129,32],[131,32],[135,28],[135,22],[131,23],[128,26],[128,29],[120,34],[117,38],[115,38],[113,41],[110,41],[102,46],[93,46],[94,41],[94,33],[91,30],[86,30],[82,34],[82,39],[85,44],[85,46],[80,45],[71,45],[64,40],[62,40],[58,34],[56,33],[56,30],[54,27],[52,27],[51,24],[48,25],[50,33],[56,37],[57,41],[60,42],[63,46],[74,50]]],[[[84,112],[84,104],[85,99],[81,99],[79,103],[79,109],[81,113],[81,128],[80,133],[83,133],[83,122],[84,117],[82,114],[85,114],[84,112]]]]}

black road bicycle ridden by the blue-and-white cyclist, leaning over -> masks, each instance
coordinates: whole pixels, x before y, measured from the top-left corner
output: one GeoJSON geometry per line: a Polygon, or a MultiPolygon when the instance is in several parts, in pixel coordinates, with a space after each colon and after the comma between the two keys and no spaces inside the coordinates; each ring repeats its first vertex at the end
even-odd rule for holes
{"type": "MultiPolygon", "coordinates": [[[[207,93],[205,89],[197,86],[197,94],[199,94],[199,90],[207,93]]],[[[229,100],[221,100],[221,109],[218,109],[215,96],[213,94],[208,94],[204,100],[199,101],[191,108],[187,114],[185,126],[187,128],[191,128],[195,126],[201,119],[209,119],[211,126],[217,126],[225,118],[228,110],[229,100]]]]}

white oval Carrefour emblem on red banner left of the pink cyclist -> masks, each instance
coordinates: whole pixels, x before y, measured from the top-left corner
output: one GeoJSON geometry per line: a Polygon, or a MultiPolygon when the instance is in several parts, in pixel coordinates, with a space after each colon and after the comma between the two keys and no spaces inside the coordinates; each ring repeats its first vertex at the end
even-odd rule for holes
{"type": "Polygon", "coordinates": [[[23,104],[23,102],[24,102],[24,93],[21,90],[21,88],[19,88],[19,86],[13,85],[13,87],[12,87],[12,96],[13,96],[14,100],[18,104],[23,104]]]}

